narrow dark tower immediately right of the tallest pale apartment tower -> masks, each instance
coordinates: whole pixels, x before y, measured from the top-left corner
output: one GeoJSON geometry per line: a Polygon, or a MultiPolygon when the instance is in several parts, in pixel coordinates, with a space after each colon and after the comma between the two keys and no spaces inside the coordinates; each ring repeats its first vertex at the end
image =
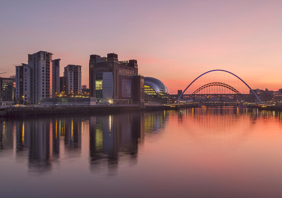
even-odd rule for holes
{"type": "Polygon", "coordinates": [[[58,96],[60,94],[60,59],[52,60],[52,96],[58,96]]]}

